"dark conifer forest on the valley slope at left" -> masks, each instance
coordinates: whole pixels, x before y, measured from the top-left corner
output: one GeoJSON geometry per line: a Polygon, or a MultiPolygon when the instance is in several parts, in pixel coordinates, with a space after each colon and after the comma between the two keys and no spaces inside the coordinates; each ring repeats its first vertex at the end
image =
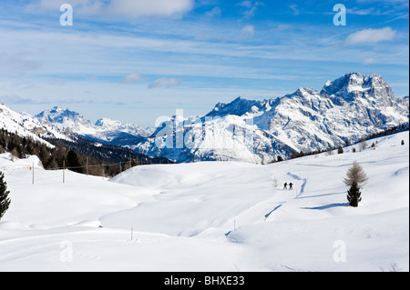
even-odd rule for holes
{"type": "Polygon", "coordinates": [[[115,176],[136,165],[169,164],[166,158],[150,158],[114,145],[98,145],[77,138],[77,142],[47,139],[54,147],[0,130],[0,153],[10,152],[17,158],[37,155],[45,169],[68,168],[80,174],[115,176]]]}

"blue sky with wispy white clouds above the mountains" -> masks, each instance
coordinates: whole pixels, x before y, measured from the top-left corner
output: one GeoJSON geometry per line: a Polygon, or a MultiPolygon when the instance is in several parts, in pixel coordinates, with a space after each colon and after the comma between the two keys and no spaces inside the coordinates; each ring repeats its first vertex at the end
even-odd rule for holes
{"type": "Polygon", "coordinates": [[[3,0],[0,100],[143,126],[238,96],[321,90],[349,72],[409,92],[406,0],[3,0]],[[60,25],[60,5],[73,25],[60,25]],[[333,24],[333,6],[347,9],[333,24]]]}

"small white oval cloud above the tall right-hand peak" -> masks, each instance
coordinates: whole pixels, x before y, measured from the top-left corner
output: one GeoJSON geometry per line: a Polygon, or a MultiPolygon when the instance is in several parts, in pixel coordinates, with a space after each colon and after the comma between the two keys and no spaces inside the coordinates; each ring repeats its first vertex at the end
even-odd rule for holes
{"type": "Polygon", "coordinates": [[[395,38],[397,31],[391,27],[381,29],[364,29],[347,36],[344,45],[358,45],[365,43],[378,43],[381,41],[390,41],[395,38]]]}

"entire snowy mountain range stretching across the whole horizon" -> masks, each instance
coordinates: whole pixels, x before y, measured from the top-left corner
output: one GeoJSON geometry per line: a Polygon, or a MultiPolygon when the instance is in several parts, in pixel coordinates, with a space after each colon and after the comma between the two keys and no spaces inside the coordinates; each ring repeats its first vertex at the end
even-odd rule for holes
{"type": "Polygon", "coordinates": [[[0,106],[0,125],[21,135],[70,138],[80,135],[179,163],[244,161],[268,163],[278,155],[321,151],[408,124],[408,96],[396,98],[380,75],[347,74],[321,92],[299,88],[292,95],[262,101],[239,97],[219,103],[205,116],[174,115],[144,129],[54,107],[32,117],[0,106]],[[3,123],[2,123],[3,122],[3,123]]]}

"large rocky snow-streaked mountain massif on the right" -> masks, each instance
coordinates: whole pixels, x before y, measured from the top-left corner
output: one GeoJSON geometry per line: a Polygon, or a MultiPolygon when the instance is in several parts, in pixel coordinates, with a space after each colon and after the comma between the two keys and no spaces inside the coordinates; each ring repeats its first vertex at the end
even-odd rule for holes
{"type": "Polygon", "coordinates": [[[174,116],[131,148],[178,162],[266,163],[292,151],[309,153],[354,144],[408,121],[408,97],[395,98],[382,76],[348,74],[327,82],[320,93],[299,88],[271,100],[240,97],[231,104],[216,105],[202,118],[174,116]]]}

